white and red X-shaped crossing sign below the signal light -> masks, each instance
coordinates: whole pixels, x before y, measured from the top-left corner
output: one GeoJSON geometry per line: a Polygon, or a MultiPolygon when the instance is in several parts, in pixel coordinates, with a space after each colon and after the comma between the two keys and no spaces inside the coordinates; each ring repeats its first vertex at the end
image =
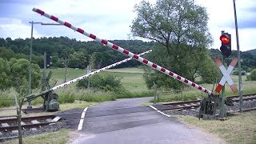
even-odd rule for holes
{"type": "Polygon", "coordinates": [[[234,66],[238,62],[238,58],[233,58],[232,62],[230,62],[230,66],[227,69],[225,68],[225,66],[223,66],[220,58],[216,58],[215,62],[217,63],[218,68],[222,71],[223,74],[222,80],[218,83],[218,86],[216,87],[215,91],[219,93],[222,90],[222,86],[224,86],[225,83],[227,82],[234,93],[238,92],[237,87],[234,85],[234,82],[230,77],[230,74],[234,69],[234,66]]]}

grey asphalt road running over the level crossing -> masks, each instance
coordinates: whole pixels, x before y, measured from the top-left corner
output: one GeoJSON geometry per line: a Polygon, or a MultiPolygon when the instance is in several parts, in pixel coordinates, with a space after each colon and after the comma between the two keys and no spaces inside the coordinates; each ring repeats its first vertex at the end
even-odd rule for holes
{"type": "Polygon", "coordinates": [[[91,106],[86,111],[82,130],[70,143],[223,143],[210,134],[168,118],[150,106],[140,106],[151,98],[119,99],[91,106]]]}

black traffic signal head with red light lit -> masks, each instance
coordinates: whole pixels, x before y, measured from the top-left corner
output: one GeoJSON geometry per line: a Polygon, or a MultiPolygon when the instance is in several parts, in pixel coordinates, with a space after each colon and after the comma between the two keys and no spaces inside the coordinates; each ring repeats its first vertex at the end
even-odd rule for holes
{"type": "Polygon", "coordinates": [[[220,47],[222,55],[228,58],[231,55],[231,34],[223,33],[219,39],[222,42],[222,46],[220,47]]]}

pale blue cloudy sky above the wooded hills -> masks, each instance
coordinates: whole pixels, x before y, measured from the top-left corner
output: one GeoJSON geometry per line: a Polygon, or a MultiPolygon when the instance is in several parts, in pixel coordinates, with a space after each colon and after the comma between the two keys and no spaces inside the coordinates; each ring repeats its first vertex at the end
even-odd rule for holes
{"type": "MultiPolygon", "coordinates": [[[[139,2],[141,0],[0,0],[0,38],[30,38],[30,21],[54,22],[34,13],[35,7],[99,38],[133,39],[129,37],[130,26],[136,17],[134,5],[139,2]]],[[[208,27],[214,38],[210,48],[220,47],[219,36],[221,30],[225,30],[232,34],[232,50],[236,50],[233,0],[196,0],[196,3],[205,6],[209,14],[208,27]]],[[[256,49],[256,0],[237,0],[236,5],[240,50],[256,49]]],[[[91,40],[66,26],[34,25],[34,38],[60,36],[91,40]]]]}

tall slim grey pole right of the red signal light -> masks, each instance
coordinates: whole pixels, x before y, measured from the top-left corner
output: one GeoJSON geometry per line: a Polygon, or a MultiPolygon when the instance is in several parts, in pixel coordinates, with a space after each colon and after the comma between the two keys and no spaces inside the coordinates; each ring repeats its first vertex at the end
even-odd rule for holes
{"type": "Polygon", "coordinates": [[[234,24],[235,24],[235,33],[237,39],[237,50],[238,50],[238,83],[239,83],[239,102],[240,102],[240,112],[242,112],[242,74],[241,74],[241,58],[240,58],[240,48],[239,48],[239,38],[238,38],[238,20],[237,20],[237,10],[235,6],[235,0],[233,0],[234,4],[234,24]]]}

